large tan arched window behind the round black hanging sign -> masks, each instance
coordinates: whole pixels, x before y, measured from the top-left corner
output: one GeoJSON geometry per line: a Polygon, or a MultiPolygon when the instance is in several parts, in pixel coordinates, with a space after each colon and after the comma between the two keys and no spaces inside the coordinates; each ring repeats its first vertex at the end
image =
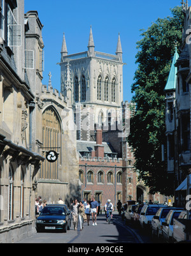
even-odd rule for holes
{"type": "Polygon", "coordinates": [[[61,146],[61,126],[59,116],[55,109],[50,106],[43,112],[43,147],[44,156],[51,149],[55,150],[59,157],[56,162],[50,163],[45,160],[41,167],[41,179],[59,179],[59,163],[61,164],[60,146],[61,146]]]}

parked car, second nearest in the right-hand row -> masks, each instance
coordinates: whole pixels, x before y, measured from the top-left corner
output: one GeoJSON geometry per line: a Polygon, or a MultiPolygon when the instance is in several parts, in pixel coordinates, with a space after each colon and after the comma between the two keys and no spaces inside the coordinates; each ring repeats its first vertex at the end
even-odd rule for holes
{"type": "Polygon", "coordinates": [[[173,242],[173,220],[178,219],[181,209],[173,209],[169,211],[164,222],[162,222],[162,239],[167,243],[173,242]]]}

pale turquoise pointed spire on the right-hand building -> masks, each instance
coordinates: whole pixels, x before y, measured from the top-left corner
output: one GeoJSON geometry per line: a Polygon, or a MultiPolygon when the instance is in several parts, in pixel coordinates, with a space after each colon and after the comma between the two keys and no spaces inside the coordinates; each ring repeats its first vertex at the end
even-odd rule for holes
{"type": "Polygon", "coordinates": [[[177,73],[177,67],[175,66],[176,61],[178,59],[179,55],[177,52],[177,47],[175,45],[175,53],[174,53],[174,57],[173,57],[173,63],[171,64],[171,70],[169,73],[169,77],[166,83],[166,87],[164,88],[164,90],[173,90],[176,89],[176,73],[177,73]]]}

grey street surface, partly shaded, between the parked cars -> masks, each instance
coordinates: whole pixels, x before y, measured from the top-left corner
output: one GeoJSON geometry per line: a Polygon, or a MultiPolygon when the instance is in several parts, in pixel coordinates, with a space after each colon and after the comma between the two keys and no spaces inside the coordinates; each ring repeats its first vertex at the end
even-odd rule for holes
{"type": "Polygon", "coordinates": [[[141,230],[135,230],[124,224],[118,213],[113,214],[110,225],[106,222],[105,215],[97,217],[97,226],[84,223],[82,231],[74,231],[73,223],[71,229],[66,233],[41,232],[32,237],[23,239],[18,243],[67,243],[67,244],[106,244],[106,243],[152,243],[150,236],[141,234],[141,230]]]}

